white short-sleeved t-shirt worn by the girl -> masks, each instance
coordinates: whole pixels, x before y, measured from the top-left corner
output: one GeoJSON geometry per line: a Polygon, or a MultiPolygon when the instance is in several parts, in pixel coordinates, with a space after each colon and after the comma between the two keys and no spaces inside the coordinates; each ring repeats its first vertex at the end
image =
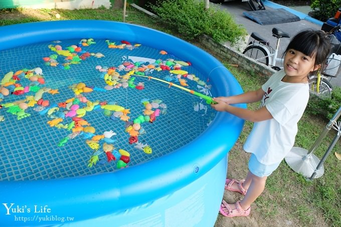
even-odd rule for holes
{"type": "Polygon", "coordinates": [[[265,93],[259,108],[265,105],[273,118],[255,122],[244,144],[244,150],[254,153],[265,165],[280,162],[290,151],[297,134],[297,122],[309,100],[307,83],[282,82],[284,76],[284,70],[276,72],[262,86],[265,93]]]}

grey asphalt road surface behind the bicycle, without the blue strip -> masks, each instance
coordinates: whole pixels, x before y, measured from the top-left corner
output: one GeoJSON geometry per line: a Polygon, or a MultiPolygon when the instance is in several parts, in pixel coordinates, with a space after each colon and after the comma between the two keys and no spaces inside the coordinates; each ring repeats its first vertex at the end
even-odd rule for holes
{"type": "MultiPolygon", "coordinates": [[[[296,33],[304,29],[316,29],[316,30],[321,29],[320,25],[317,25],[315,23],[312,23],[306,20],[276,24],[276,25],[260,25],[243,15],[243,12],[251,10],[247,2],[243,3],[241,1],[233,1],[233,2],[226,2],[217,6],[219,6],[222,10],[226,10],[231,15],[233,15],[235,17],[236,23],[243,25],[246,28],[248,34],[251,34],[252,32],[257,32],[264,39],[270,41],[271,46],[273,46],[274,48],[277,42],[277,39],[272,37],[272,32],[271,32],[272,28],[274,27],[288,33],[290,36],[294,36],[296,33]]],[[[266,9],[268,8],[266,7],[266,9]]],[[[290,40],[286,38],[281,39],[279,56],[281,56],[281,53],[283,53],[289,41],[290,40]]],[[[337,78],[332,78],[330,82],[333,86],[341,87],[341,76],[337,78]]]]}

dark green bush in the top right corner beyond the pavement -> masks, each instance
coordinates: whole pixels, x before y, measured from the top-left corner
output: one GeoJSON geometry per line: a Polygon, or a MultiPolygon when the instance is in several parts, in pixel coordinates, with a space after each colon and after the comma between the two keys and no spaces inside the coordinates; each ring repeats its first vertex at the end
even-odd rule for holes
{"type": "Polygon", "coordinates": [[[337,9],[341,7],[341,0],[314,0],[310,7],[316,19],[326,21],[333,17],[337,9]]]}

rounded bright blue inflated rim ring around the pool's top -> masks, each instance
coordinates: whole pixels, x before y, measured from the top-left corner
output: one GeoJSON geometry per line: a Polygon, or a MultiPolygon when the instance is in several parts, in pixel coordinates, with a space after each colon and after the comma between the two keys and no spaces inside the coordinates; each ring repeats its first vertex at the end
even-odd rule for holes
{"type": "MultiPolygon", "coordinates": [[[[174,36],[138,25],[95,20],[35,22],[0,27],[0,34],[4,34],[0,37],[0,51],[52,40],[128,40],[189,60],[202,74],[208,75],[217,96],[243,92],[225,66],[207,52],[174,36]]],[[[245,104],[236,106],[245,108],[245,104]]],[[[90,218],[89,215],[101,216],[109,212],[108,207],[124,210],[153,201],[193,182],[213,168],[232,148],[243,124],[240,118],[219,112],[209,127],[189,144],[162,157],[115,172],[50,180],[0,181],[1,197],[6,195],[1,201],[28,206],[50,204],[59,215],[77,209],[82,213],[78,214],[79,219],[90,218]],[[65,191],[65,188],[71,189],[65,191]],[[28,199],[28,195],[34,199],[28,199]],[[89,212],[94,206],[99,208],[89,212]]]]}

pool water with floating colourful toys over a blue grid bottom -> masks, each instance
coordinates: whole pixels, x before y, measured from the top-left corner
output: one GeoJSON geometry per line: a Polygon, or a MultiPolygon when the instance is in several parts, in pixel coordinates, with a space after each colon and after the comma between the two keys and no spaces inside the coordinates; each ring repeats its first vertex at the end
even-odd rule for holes
{"type": "Polygon", "coordinates": [[[204,99],[164,82],[211,96],[190,60],[164,50],[62,40],[1,51],[0,58],[1,180],[143,163],[191,142],[215,116],[204,99]]]}

